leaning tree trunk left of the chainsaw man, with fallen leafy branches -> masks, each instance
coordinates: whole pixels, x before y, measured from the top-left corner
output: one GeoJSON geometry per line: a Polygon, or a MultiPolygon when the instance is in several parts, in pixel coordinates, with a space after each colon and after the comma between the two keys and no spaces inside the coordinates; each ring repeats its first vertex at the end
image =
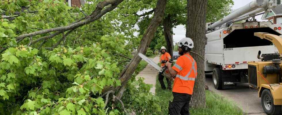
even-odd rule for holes
{"type": "MultiPolygon", "coordinates": [[[[165,12],[165,5],[167,0],[158,0],[157,6],[154,12],[154,17],[151,20],[146,32],[143,35],[143,38],[140,42],[140,46],[138,47],[136,53],[134,54],[134,57],[131,59],[130,62],[127,63],[125,68],[120,73],[121,80],[121,86],[124,86],[127,84],[128,80],[131,78],[133,72],[135,71],[136,67],[138,66],[139,62],[141,61],[141,58],[138,56],[138,53],[146,54],[148,47],[150,46],[150,43],[155,36],[155,32],[157,31],[157,27],[161,23],[164,12],[165,12]]],[[[114,91],[117,91],[120,87],[105,87],[102,91],[103,93],[115,89],[114,91]]],[[[120,96],[121,97],[121,96],[120,96]]]]}

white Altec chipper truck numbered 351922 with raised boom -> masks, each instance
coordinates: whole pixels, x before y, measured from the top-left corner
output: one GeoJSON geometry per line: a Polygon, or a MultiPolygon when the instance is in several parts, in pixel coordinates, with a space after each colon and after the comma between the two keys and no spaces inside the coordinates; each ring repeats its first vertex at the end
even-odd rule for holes
{"type": "Polygon", "coordinates": [[[248,62],[259,61],[259,51],[270,57],[277,56],[277,48],[268,40],[258,39],[254,32],[281,36],[282,25],[270,21],[257,22],[254,16],[262,14],[262,11],[270,11],[281,5],[281,2],[255,0],[217,22],[207,23],[205,72],[213,72],[216,89],[234,88],[237,83],[248,83],[248,62]],[[245,19],[246,22],[235,24],[245,19]]]}

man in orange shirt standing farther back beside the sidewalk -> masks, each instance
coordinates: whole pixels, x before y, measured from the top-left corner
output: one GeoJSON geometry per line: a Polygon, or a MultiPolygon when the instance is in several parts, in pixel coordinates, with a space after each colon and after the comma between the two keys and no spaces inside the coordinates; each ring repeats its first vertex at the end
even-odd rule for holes
{"type": "MultiPolygon", "coordinates": [[[[160,56],[160,62],[161,62],[161,66],[165,66],[165,62],[168,62],[168,60],[171,59],[171,56],[169,55],[169,53],[166,52],[166,48],[164,46],[161,47],[161,53],[162,55],[160,56]]],[[[161,73],[159,73],[159,82],[161,84],[161,89],[165,90],[165,83],[163,83],[163,75],[161,73]]],[[[171,81],[166,78],[167,81],[167,89],[171,90],[171,81]]]]}

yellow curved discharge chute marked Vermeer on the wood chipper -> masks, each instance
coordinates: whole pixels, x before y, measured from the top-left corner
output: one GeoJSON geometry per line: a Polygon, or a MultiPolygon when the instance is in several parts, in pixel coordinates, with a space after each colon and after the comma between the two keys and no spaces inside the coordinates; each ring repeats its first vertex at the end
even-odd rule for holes
{"type": "Polygon", "coordinates": [[[260,37],[260,39],[267,39],[268,41],[271,41],[278,49],[279,56],[282,56],[282,38],[275,35],[275,34],[269,34],[264,32],[255,32],[255,36],[260,37]]]}

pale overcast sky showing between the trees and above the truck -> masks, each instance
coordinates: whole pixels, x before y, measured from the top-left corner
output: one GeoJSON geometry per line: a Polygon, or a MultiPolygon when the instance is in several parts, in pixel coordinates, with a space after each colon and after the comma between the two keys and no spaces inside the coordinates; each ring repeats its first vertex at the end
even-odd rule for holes
{"type": "MultiPolygon", "coordinates": [[[[232,7],[232,9],[238,9],[240,7],[245,6],[247,3],[250,3],[251,1],[254,0],[233,0],[234,1],[234,5],[232,7]]],[[[261,21],[261,16],[256,16],[255,18],[257,19],[257,21],[261,21]]],[[[176,28],[173,28],[173,32],[175,35],[173,35],[173,41],[178,42],[180,41],[182,38],[185,37],[185,33],[186,33],[186,27],[184,25],[179,25],[176,26],[176,28]]]]}

